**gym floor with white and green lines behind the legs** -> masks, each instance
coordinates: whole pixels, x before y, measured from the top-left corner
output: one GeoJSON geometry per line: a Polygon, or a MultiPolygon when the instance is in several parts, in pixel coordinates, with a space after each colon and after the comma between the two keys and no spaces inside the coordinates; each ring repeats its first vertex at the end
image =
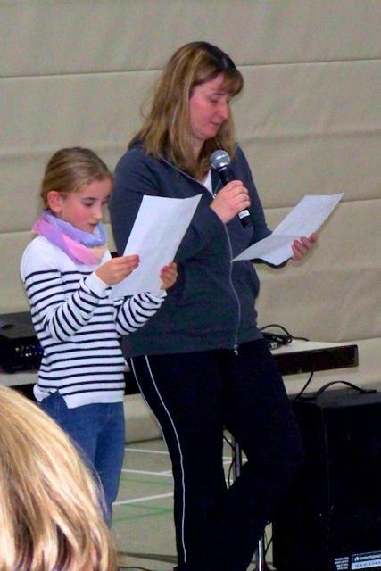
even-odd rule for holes
{"type": "MultiPolygon", "coordinates": [[[[231,446],[225,443],[227,478],[231,477],[231,462],[231,446]]],[[[165,443],[162,439],[129,443],[112,518],[120,569],[170,571],[176,565],[172,508],[173,482],[165,443]]],[[[268,565],[270,559],[269,549],[268,565]]],[[[253,560],[249,570],[255,567],[253,560]]]]}

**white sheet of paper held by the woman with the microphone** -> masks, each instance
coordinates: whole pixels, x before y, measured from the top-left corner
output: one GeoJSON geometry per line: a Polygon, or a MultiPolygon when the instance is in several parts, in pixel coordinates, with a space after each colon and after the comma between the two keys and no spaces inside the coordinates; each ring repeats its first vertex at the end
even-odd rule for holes
{"type": "Polygon", "coordinates": [[[278,266],[293,256],[294,240],[316,232],[342,197],[343,193],[307,194],[270,236],[246,248],[233,261],[260,259],[278,266]]]}

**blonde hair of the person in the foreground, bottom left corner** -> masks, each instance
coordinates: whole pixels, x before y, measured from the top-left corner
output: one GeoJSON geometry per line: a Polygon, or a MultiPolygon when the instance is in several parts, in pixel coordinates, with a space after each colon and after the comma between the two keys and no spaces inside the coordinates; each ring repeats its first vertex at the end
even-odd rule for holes
{"type": "Polygon", "coordinates": [[[100,491],[54,420],[0,386],[1,571],[114,571],[100,491]]]}

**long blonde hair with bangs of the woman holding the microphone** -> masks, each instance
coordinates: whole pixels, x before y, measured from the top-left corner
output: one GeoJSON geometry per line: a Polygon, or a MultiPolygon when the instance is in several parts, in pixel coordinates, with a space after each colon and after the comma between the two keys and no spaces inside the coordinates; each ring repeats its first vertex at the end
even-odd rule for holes
{"type": "Polygon", "coordinates": [[[146,153],[164,156],[179,169],[195,178],[209,170],[209,157],[216,149],[224,149],[231,156],[235,150],[234,126],[231,116],[224,121],[216,137],[205,141],[200,156],[195,157],[191,146],[189,98],[195,86],[224,77],[221,89],[237,95],[244,87],[244,79],[228,54],[208,42],[191,42],[172,55],[162,71],[154,93],[151,110],[143,127],[128,145],[137,141],[146,153]]]}

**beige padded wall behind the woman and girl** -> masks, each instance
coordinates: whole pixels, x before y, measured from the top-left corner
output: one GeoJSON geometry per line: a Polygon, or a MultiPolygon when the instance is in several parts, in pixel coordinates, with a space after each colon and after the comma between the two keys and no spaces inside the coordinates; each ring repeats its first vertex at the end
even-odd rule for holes
{"type": "Polygon", "coordinates": [[[374,357],[381,337],[380,29],[380,0],[0,2],[0,312],[28,307],[18,265],[48,156],[63,145],[88,145],[113,167],[163,63],[183,43],[206,39],[244,73],[236,134],[269,224],[304,194],[344,192],[308,260],[260,268],[261,325],[361,340],[374,357]]]}

